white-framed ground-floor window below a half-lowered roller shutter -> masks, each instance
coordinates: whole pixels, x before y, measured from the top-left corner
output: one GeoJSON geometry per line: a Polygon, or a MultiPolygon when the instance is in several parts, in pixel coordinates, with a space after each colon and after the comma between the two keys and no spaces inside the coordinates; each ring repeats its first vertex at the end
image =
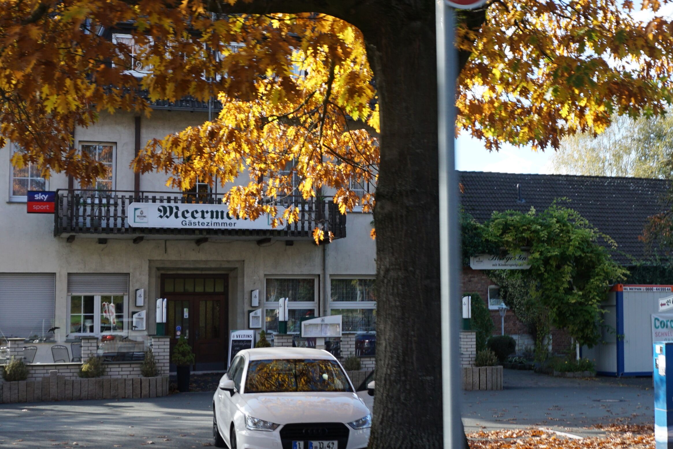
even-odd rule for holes
{"type": "Polygon", "coordinates": [[[110,335],[128,331],[126,295],[71,295],[69,333],[110,335]]]}

